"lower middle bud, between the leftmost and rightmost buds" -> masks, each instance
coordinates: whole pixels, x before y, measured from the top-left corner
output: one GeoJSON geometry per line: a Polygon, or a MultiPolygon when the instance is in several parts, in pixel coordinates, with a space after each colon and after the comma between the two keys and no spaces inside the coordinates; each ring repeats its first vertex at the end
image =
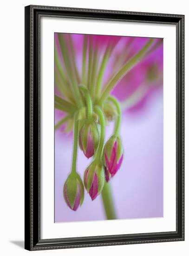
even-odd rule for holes
{"type": "Polygon", "coordinates": [[[101,163],[91,163],[84,174],[85,189],[92,201],[101,193],[104,186],[104,168],[101,163]]]}

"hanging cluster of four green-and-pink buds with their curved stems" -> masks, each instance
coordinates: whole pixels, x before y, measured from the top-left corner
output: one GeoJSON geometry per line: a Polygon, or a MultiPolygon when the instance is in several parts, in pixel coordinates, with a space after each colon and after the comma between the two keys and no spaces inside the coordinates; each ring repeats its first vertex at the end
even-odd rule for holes
{"type": "MultiPolygon", "coordinates": [[[[86,95],[90,97],[89,94],[86,95]]],[[[89,98],[89,100],[91,99],[89,98]]],[[[114,98],[112,102],[117,101],[114,98]]],[[[88,115],[82,115],[82,118],[79,120],[82,125],[78,126],[78,120],[76,119],[75,121],[75,151],[73,154],[75,154],[75,156],[77,155],[78,144],[85,157],[94,158],[84,173],[84,186],[87,193],[91,196],[92,201],[102,192],[104,182],[109,182],[110,178],[117,173],[123,160],[123,148],[118,135],[120,127],[120,109],[118,107],[116,109],[112,102],[107,101],[107,106],[110,107],[109,109],[104,104],[103,108],[94,106],[91,113],[90,111],[86,111],[88,115]],[[104,145],[105,124],[107,121],[114,119],[118,120],[115,122],[114,134],[104,145]]],[[[118,104],[118,102],[116,104],[118,104]]],[[[84,186],[80,176],[76,172],[76,158],[74,159],[73,171],[68,176],[64,185],[64,197],[70,209],[75,211],[83,202],[84,186]]]]}

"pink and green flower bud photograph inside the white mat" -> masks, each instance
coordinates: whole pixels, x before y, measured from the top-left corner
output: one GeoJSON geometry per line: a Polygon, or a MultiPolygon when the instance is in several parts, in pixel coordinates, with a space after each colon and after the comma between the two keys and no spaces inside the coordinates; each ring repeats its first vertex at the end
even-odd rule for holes
{"type": "Polygon", "coordinates": [[[54,222],[163,217],[163,39],[54,34],[54,222]]]}

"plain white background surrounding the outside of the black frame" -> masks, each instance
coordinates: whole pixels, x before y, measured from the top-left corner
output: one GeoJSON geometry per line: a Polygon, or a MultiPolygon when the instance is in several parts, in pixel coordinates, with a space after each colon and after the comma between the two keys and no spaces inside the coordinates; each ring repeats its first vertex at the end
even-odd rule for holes
{"type": "MultiPolygon", "coordinates": [[[[20,0],[1,3],[0,36],[0,252],[2,255],[186,255],[189,249],[186,203],[186,241],[152,243],[111,247],[66,249],[29,252],[23,249],[24,240],[24,6],[29,4],[65,7],[117,9],[126,11],[185,14],[186,45],[189,44],[189,13],[187,0],[178,2],[158,0],[102,1],[95,0],[20,0]],[[158,3],[158,4],[157,4],[158,3]]],[[[185,50],[186,71],[189,69],[189,50],[185,50]]],[[[189,84],[186,72],[185,84],[189,84]]],[[[186,98],[189,89],[185,89],[186,98]]],[[[185,104],[185,130],[189,130],[189,101],[185,104]]],[[[189,139],[185,136],[186,149],[186,202],[189,195],[189,139]],[[188,158],[188,159],[187,159],[188,158]]]]}

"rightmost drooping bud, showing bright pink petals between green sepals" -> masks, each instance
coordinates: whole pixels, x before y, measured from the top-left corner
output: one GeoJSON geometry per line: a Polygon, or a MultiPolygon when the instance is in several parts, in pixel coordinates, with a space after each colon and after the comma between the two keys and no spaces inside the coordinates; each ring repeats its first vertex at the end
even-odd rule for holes
{"type": "Polygon", "coordinates": [[[123,160],[123,148],[119,136],[112,135],[104,146],[105,178],[108,182],[121,166],[123,160]]]}

